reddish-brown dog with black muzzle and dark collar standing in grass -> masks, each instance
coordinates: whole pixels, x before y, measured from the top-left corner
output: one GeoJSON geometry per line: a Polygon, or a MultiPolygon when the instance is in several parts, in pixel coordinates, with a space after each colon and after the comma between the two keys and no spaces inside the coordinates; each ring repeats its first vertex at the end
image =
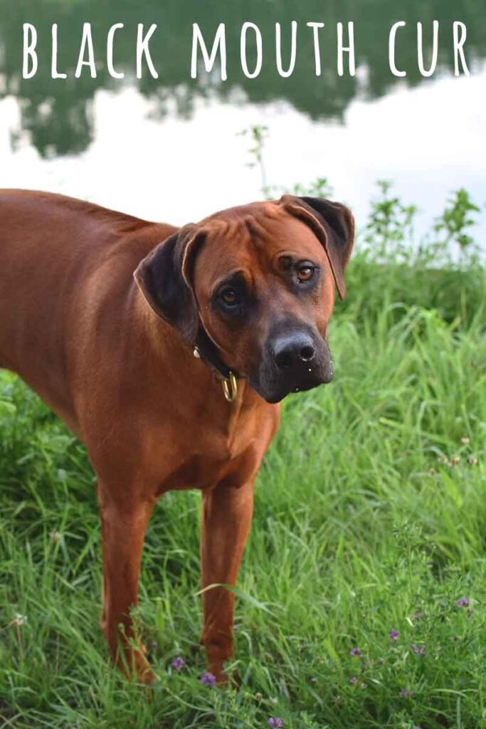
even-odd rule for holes
{"type": "MultiPolygon", "coordinates": [[[[234,585],[277,403],[329,382],[348,208],[284,195],[180,230],[60,195],[0,192],[0,367],[87,446],[98,477],[101,625],[152,680],[130,607],[144,532],[169,489],[203,495],[203,588],[234,585]]],[[[208,670],[224,679],[234,596],[203,593],[208,670]]]]}

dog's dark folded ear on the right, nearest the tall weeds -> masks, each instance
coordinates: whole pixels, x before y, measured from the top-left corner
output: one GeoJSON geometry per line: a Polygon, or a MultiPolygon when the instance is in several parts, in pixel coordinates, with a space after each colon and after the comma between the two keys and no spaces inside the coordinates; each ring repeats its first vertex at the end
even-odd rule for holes
{"type": "Polygon", "coordinates": [[[280,203],[289,213],[307,223],[317,235],[326,251],[337,291],[344,299],[346,295],[344,272],[354,242],[353,214],[346,206],[324,198],[297,198],[294,195],[283,195],[280,203]]]}

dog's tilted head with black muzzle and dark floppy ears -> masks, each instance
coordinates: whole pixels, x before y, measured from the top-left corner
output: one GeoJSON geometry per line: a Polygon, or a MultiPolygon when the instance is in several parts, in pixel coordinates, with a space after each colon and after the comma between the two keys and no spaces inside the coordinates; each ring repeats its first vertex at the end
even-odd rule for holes
{"type": "Polygon", "coordinates": [[[332,379],[327,324],[353,236],[340,203],[284,195],[184,226],[135,278],[189,346],[202,325],[227,367],[278,402],[332,379]]]}

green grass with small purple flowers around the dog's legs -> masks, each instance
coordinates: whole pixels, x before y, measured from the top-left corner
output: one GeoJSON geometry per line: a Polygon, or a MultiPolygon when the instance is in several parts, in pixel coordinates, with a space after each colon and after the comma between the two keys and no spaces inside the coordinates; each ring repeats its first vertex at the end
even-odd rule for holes
{"type": "Polygon", "coordinates": [[[259,474],[238,689],[198,681],[197,493],[165,496],[146,536],[137,620],[160,682],[109,666],[85,451],[0,375],[4,727],[486,727],[485,271],[385,253],[350,264],[334,383],[286,400],[259,474]]]}

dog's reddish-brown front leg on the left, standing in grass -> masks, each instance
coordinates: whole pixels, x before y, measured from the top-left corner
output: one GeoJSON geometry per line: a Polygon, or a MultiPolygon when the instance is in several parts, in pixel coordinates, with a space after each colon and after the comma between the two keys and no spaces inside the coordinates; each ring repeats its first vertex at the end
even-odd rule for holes
{"type": "Polygon", "coordinates": [[[144,535],[153,504],[115,502],[98,483],[103,547],[103,612],[101,628],[111,658],[128,678],[152,682],[145,649],[133,636],[130,609],[138,604],[138,575],[144,535]]]}

